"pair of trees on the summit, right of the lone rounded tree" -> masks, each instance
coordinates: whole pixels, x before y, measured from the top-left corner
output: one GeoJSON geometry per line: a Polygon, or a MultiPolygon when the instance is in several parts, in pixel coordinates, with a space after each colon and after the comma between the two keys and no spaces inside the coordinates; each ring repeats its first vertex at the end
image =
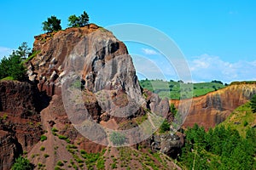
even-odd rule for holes
{"type": "Polygon", "coordinates": [[[72,27],[86,26],[89,23],[89,15],[85,11],[79,17],[73,14],[68,17],[68,22],[68,26],[72,27]]]}

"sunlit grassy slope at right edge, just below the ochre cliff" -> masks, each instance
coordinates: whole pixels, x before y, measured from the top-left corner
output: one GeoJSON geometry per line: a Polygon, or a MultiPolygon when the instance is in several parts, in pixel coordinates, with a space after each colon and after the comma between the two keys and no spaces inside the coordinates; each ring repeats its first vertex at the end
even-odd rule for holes
{"type": "Polygon", "coordinates": [[[236,129],[242,137],[245,137],[247,129],[254,125],[255,119],[256,113],[253,113],[250,102],[247,102],[245,105],[237,107],[236,110],[219,125],[236,129]]]}

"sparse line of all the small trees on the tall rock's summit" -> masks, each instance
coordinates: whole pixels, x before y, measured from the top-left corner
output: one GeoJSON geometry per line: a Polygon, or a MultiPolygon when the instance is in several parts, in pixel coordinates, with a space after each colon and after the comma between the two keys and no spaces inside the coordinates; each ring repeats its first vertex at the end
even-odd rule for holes
{"type": "MultiPolygon", "coordinates": [[[[68,17],[67,26],[70,27],[82,27],[89,24],[89,15],[84,11],[83,14],[77,16],[72,14],[68,17]]],[[[43,31],[52,32],[52,31],[60,31],[61,28],[61,20],[57,19],[55,15],[50,16],[43,23],[43,31]]]]}

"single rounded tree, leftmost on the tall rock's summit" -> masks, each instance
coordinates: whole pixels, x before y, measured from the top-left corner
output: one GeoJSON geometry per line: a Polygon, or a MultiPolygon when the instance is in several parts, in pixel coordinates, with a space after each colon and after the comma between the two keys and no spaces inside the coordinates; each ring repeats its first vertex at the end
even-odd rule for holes
{"type": "Polygon", "coordinates": [[[61,20],[57,19],[55,16],[49,17],[43,23],[43,31],[59,31],[61,30],[61,20]]]}

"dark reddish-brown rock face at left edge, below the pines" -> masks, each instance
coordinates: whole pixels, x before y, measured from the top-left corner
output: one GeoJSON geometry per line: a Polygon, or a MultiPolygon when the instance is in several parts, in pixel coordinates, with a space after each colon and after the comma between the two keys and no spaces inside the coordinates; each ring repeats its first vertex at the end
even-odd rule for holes
{"type": "Polygon", "coordinates": [[[0,169],[9,169],[40,140],[39,112],[47,105],[43,96],[26,82],[0,82],[0,169]]]}

